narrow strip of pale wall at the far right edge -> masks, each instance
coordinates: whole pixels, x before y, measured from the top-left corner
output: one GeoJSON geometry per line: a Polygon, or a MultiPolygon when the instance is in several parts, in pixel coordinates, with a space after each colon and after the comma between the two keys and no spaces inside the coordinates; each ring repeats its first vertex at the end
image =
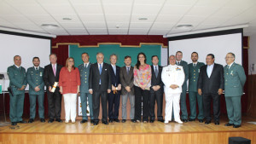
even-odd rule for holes
{"type": "Polygon", "coordinates": [[[251,36],[249,39],[249,49],[248,49],[248,59],[249,59],[249,75],[256,74],[256,34],[251,36]],[[250,66],[254,64],[254,72],[250,71],[250,66]]]}

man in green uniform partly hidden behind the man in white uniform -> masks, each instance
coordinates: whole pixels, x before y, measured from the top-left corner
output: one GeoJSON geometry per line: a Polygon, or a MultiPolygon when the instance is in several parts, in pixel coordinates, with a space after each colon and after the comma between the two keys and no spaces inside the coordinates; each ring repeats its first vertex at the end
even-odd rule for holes
{"type": "Polygon", "coordinates": [[[183,59],[183,52],[177,51],[176,52],[176,65],[183,66],[183,71],[185,74],[185,80],[183,82],[183,92],[180,95],[180,109],[182,112],[181,120],[186,123],[186,122],[188,122],[188,111],[187,111],[186,98],[187,98],[187,81],[189,79],[189,66],[188,66],[188,63],[182,59],[183,59]]]}

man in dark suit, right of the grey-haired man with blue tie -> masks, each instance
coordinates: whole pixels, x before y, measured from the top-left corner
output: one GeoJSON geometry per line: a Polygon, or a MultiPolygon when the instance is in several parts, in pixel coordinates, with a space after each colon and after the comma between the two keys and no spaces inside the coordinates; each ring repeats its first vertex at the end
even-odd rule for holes
{"type": "Polygon", "coordinates": [[[111,87],[112,90],[108,94],[108,118],[109,123],[119,123],[119,101],[121,93],[121,84],[119,81],[119,66],[116,66],[117,55],[110,55],[110,73],[111,73],[111,87]]]}

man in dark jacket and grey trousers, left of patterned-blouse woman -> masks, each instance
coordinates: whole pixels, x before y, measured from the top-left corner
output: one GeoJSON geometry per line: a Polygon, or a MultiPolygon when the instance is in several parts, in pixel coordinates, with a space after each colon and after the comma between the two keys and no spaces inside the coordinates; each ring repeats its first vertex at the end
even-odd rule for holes
{"type": "Polygon", "coordinates": [[[127,109],[126,104],[129,96],[131,110],[130,118],[131,122],[136,123],[134,119],[134,105],[135,105],[135,96],[134,96],[134,84],[133,84],[133,66],[131,66],[131,56],[125,56],[125,66],[120,68],[120,82],[122,85],[122,123],[126,122],[127,109]]]}

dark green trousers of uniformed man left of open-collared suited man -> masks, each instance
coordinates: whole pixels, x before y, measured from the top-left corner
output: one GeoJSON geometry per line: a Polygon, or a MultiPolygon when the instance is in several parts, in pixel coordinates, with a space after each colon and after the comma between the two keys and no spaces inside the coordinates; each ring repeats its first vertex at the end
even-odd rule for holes
{"type": "Polygon", "coordinates": [[[196,118],[196,100],[198,104],[198,119],[204,118],[204,111],[203,111],[203,101],[202,95],[199,95],[197,92],[189,91],[189,106],[190,106],[190,118],[196,118]]]}

